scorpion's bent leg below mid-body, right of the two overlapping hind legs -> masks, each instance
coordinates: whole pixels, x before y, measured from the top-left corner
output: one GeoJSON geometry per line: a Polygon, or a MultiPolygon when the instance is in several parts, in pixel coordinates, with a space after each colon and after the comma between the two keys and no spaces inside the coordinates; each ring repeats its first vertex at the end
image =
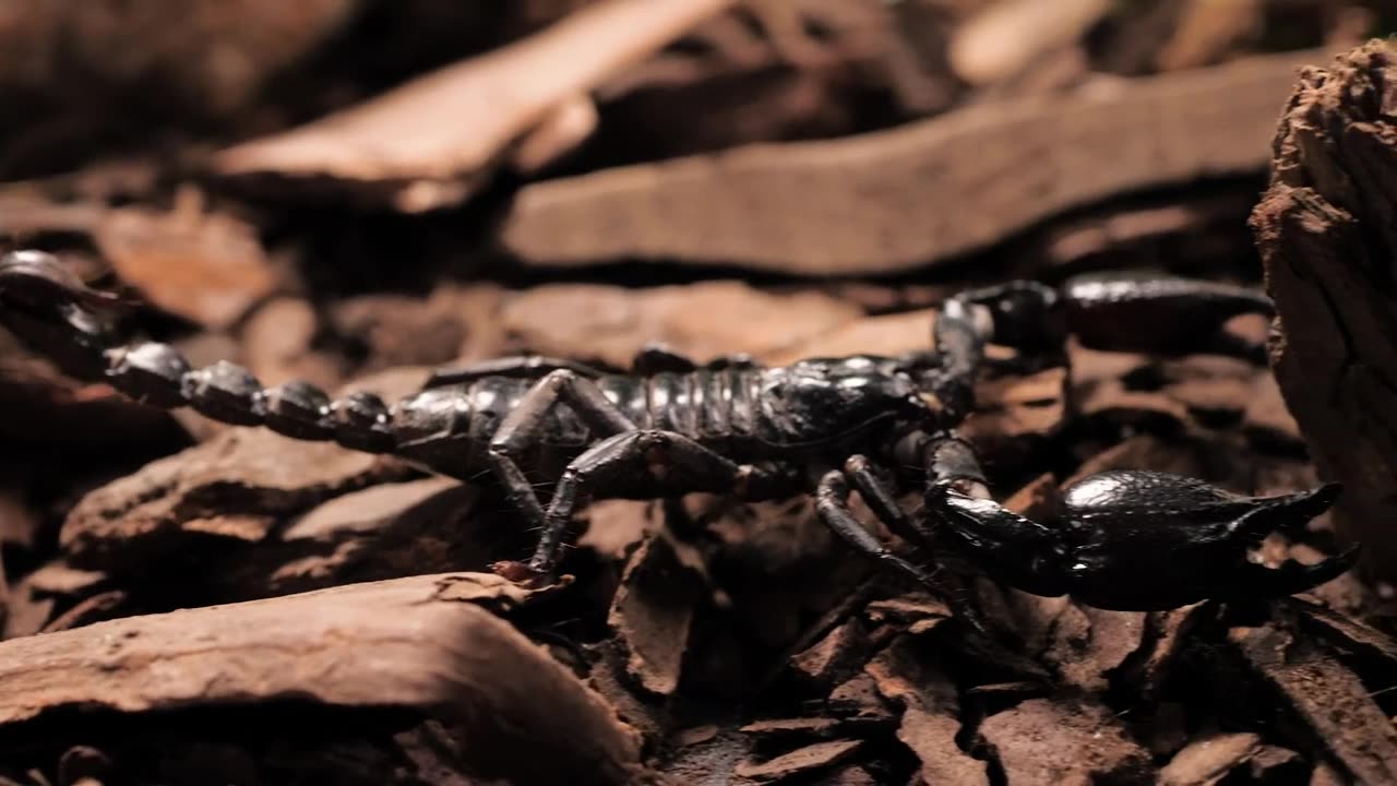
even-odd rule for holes
{"type": "Polygon", "coordinates": [[[592,445],[563,471],[553,490],[528,571],[549,575],[563,550],[563,533],[578,502],[617,487],[633,488],[637,477],[673,491],[729,491],[764,496],[777,476],[753,464],[739,464],[689,436],[652,428],[616,434],[592,445]]]}

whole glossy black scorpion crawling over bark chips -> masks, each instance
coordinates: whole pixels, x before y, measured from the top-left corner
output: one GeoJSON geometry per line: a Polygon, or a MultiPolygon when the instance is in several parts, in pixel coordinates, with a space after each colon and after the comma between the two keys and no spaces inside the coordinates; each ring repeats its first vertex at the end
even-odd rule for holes
{"type": "Polygon", "coordinates": [[[925,352],[761,366],[745,357],[698,365],[650,348],[631,373],[500,358],[441,369],[393,406],[369,393],[334,401],[303,382],[263,387],[229,362],[196,369],[166,344],[123,344],[101,319],[110,301],[50,255],[0,257],[0,323],[70,373],[228,424],[393,453],[462,480],[493,477],[541,533],[528,562],[496,565],[515,580],[553,573],[587,498],[712,491],[760,499],[812,487],[820,517],[841,538],[943,596],[935,571],[894,554],[855,519],[852,490],[912,544],[949,544],[997,580],[1105,608],[1291,594],[1338,576],[1355,557],[1278,569],[1248,559],[1267,534],[1326,510],[1334,485],[1243,498],[1192,478],[1112,471],[1069,488],[1060,519],[1044,524],[992,501],[975,452],[956,436],[989,343],[1044,357],[1073,334],[1108,351],[1257,359],[1257,347],[1224,330],[1234,316],[1270,315],[1270,302],[1245,288],[1136,277],[1058,288],[1013,281],[950,298],[925,352]],[[562,469],[545,505],[531,474],[552,466],[562,469]],[[908,466],[925,473],[925,519],[898,508],[887,480],[908,466]]]}

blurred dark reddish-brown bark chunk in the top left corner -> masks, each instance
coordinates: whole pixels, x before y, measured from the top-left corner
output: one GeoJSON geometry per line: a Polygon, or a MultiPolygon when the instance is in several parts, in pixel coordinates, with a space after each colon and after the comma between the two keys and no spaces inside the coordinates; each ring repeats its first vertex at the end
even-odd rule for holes
{"type": "Polygon", "coordinates": [[[0,133],[0,179],[75,169],[133,143],[170,161],[173,129],[207,133],[260,116],[253,108],[268,80],[332,41],[362,7],[360,0],[7,3],[0,113],[25,122],[0,133]]]}

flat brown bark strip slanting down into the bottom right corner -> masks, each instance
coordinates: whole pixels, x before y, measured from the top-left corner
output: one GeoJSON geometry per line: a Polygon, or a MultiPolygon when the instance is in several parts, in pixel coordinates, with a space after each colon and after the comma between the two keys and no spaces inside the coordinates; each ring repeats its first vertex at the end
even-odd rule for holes
{"type": "Polygon", "coordinates": [[[1397,730],[1358,676],[1308,636],[1275,625],[1232,628],[1228,639],[1354,778],[1397,780],[1397,730]]]}

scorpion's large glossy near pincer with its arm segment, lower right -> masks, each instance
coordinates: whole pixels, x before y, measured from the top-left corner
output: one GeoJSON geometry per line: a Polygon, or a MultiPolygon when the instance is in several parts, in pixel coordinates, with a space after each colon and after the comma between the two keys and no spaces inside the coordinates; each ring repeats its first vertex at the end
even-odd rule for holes
{"type": "Polygon", "coordinates": [[[1098,608],[1154,611],[1203,599],[1264,600],[1330,582],[1351,548],[1313,565],[1253,562],[1273,533],[1296,533],[1338,498],[1338,484],[1282,496],[1241,496],[1200,480],[1108,471],[1063,492],[1053,526],[989,499],[929,499],[942,522],[1000,580],[1035,594],[1071,594],[1098,608]]]}

